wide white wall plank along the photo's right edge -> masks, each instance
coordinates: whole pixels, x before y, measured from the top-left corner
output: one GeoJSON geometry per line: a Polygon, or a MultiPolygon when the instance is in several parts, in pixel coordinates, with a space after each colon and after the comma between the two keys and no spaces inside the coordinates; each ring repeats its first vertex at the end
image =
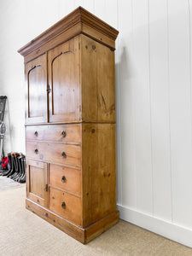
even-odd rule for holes
{"type": "Polygon", "coordinates": [[[188,1],[168,1],[173,222],[192,227],[188,1]]]}

